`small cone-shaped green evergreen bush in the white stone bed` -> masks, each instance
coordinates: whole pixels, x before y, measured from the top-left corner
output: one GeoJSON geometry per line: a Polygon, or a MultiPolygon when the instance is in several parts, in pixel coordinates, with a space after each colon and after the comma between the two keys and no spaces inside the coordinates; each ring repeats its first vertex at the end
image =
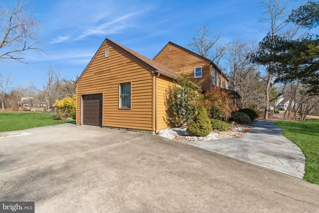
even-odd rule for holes
{"type": "Polygon", "coordinates": [[[206,136],[212,131],[210,120],[204,107],[200,107],[194,121],[189,124],[186,131],[194,136],[206,136]]]}

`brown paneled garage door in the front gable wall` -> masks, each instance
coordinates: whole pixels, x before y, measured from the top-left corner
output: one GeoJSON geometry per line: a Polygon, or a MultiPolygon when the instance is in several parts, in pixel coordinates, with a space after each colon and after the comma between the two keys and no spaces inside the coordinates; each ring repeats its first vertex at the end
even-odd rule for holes
{"type": "Polygon", "coordinates": [[[102,127],[102,94],[82,95],[83,125],[102,127]]]}

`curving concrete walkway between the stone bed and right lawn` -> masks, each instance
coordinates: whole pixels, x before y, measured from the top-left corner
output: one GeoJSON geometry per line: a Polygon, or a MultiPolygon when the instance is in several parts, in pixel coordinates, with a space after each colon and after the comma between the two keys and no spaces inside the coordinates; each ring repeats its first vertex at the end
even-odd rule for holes
{"type": "Polygon", "coordinates": [[[303,179],[306,164],[303,152],[274,123],[258,120],[242,136],[187,144],[303,179]]]}

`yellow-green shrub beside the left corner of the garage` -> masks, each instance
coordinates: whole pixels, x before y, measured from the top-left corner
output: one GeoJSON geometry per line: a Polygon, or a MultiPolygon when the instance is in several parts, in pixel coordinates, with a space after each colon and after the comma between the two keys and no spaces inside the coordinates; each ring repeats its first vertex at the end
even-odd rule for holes
{"type": "Polygon", "coordinates": [[[76,117],[76,96],[72,98],[65,97],[62,100],[56,100],[53,105],[57,109],[56,115],[58,118],[65,120],[68,118],[75,119],[76,117]]]}

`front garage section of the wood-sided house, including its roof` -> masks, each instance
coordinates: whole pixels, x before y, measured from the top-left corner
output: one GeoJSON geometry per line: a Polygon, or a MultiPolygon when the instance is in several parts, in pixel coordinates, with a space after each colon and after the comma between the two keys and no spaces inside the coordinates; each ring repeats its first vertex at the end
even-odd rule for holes
{"type": "Polygon", "coordinates": [[[76,123],[165,129],[165,90],[174,79],[175,72],[106,38],[76,82],[76,123]]]}

